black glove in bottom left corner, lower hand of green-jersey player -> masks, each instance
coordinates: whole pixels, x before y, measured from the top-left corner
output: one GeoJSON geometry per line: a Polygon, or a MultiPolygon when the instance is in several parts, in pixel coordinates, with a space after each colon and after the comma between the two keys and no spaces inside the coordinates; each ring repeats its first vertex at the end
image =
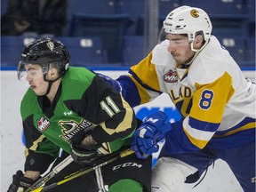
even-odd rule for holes
{"type": "Polygon", "coordinates": [[[36,180],[32,180],[24,176],[20,170],[16,174],[12,175],[12,184],[8,188],[7,192],[23,192],[27,190],[36,180]]]}

